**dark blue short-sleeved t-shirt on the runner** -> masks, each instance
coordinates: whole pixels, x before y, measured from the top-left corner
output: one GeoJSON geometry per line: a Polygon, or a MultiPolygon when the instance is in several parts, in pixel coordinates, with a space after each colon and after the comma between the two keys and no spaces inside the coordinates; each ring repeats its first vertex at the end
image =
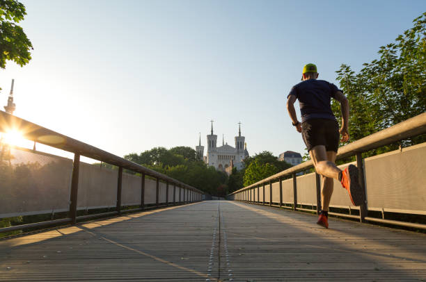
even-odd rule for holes
{"type": "Polygon", "coordinates": [[[336,120],[331,110],[331,97],[335,98],[337,91],[342,92],[333,83],[308,79],[294,85],[287,99],[294,95],[299,100],[302,122],[314,118],[336,120]]]}

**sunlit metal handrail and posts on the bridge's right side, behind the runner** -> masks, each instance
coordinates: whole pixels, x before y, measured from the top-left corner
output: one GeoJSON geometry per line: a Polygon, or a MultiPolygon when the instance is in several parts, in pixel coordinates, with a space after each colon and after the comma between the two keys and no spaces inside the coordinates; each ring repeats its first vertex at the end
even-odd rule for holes
{"type": "MultiPolygon", "coordinates": [[[[377,133],[373,133],[372,135],[369,135],[360,140],[356,140],[350,144],[345,145],[344,147],[340,147],[338,149],[336,160],[341,160],[343,158],[356,156],[356,166],[358,167],[360,183],[361,185],[363,185],[363,188],[366,190],[366,192],[368,192],[367,187],[365,187],[365,167],[364,167],[363,157],[361,154],[363,152],[370,151],[372,149],[377,149],[379,147],[383,147],[394,142],[405,140],[407,138],[412,138],[417,135],[421,135],[423,133],[426,133],[426,113],[407,119],[406,121],[401,122],[400,124],[390,126],[389,128],[386,128],[377,133]]],[[[303,208],[303,203],[301,204],[297,199],[297,179],[298,179],[297,173],[306,172],[306,170],[312,169],[313,167],[314,167],[313,161],[308,160],[294,167],[290,167],[289,169],[285,169],[283,172],[279,172],[278,174],[274,174],[272,176],[267,177],[266,179],[262,179],[261,181],[258,181],[240,190],[232,192],[231,194],[228,194],[228,199],[245,201],[252,204],[263,204],[263,205],[269,204],[269,206],[279,206],[282,208],[290,208],[292,210],[312,211],[307,208],[303,208]],[[288,203],[286,204],[283,203],[283,180],[290,176],[292,176],[292,188],[293,188],[292,200],[293,201],[290,205],[288,205],[288,203]],[[272,185],[273,185],[273,182],[276,182],[276,181],[279,182],[279,203],[277,202],[276,204],[274,204],[273,197],[272,197],[272,190],[273,190],[272,185]],[[267,188],[269,185],[269,201],[265,201],[265,185],[267,188]],[[262,194],[260,194],[260,190],[263,190],[262,194]],[[261,197],[262,197],[262,201],[260,201],[261,197]]],[[[420,165],[420,167],[426,167],[426,165],[420,165]]],[[[425,172],[424,169],[423,169],[423,172],[425,172]]],[[[419,183],[419,185],[423,185],[423,187],[425,188],[423,191],[426,191],[425,182],[419,183]]],[[[321,208],[321,184],[320,184],[320,177],[316,173],[315,173],[315,188],[316,188],[316,207],[317,207],[317,213],[319,213],[319,210],[321,208]]],[[[426,194],[426,192],[424,193],[426,194]]],[[[423,196],[419,195],[419,196],[424,197],[424,195],[423,196]]],[[[381,212],[383,215],[381,219],[377,217],[368,217],[367,199],[365,203],[359,207],[359,215],[351,215],[350,209],[351,208],[349,206],[349,215],[345,213],[329,213],[329,214],[338,215],[342,217],[355,218],[355,219],[359,219],[361,222],[365,222],[365,221],[381,222],[384,224],[395,224],[400,226],[409,226],[409,227],[418,228],[418,229],[426,229],[426,224],[416,224],[416,223],[410,223],[410,222],[400,222],[397,220],[384,219],[384,208],[381,208],[381,212]]],[[[426,215],[426,209],[423,209],[421,214],[426,215]]]]}

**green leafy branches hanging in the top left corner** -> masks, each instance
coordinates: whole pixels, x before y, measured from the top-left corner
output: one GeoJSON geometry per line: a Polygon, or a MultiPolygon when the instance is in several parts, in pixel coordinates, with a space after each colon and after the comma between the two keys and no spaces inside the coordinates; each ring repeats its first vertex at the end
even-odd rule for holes
{"type": "Polygon", "coordinates": [[[31,41],[17,23],[26,15],[25,6],[15,0],[0,0],[0,67],[6,67],[6,60],[26,65],[31,60],[31,41]]]}

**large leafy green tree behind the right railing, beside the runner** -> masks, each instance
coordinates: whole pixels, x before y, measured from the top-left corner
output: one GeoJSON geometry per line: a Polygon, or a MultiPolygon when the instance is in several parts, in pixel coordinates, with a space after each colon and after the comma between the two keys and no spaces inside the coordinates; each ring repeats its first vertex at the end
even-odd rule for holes
{"type": "MultiPolygon", "coordinates": [[[[349,99],[349,134],[358,140],[426,111],[426,13],[394,43],[380,47],[379,59],[363,64],[355,73],[348,65],[337,71],[340,88],[349,99]]],[[[340,120],[340,104],[332,109],[340,120]]],[[[405,140],[404,145],[425,142],[425,135],[405,140]]],[[[396,149],[393,144],[369,155],[396,149]]]]}

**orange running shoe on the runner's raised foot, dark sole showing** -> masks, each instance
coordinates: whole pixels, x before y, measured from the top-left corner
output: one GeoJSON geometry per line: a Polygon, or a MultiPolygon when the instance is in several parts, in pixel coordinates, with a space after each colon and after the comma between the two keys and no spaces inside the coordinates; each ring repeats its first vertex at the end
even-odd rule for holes
{"type": "Polygon", "coordinates": [[[358,181],[358,168],[355,165],[349,165],[342,171],[342,186],[349,193],[349,198],[354,206],[361,206],[365,201],[365,191],[358,181]]]}

